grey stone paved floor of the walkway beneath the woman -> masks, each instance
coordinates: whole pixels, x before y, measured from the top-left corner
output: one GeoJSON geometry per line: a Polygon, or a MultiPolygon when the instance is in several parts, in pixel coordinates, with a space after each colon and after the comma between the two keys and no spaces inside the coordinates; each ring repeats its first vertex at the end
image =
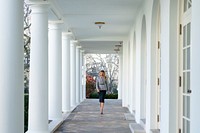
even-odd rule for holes
{"type": "Polygon", "coordinates": [[[106,99],[104,114],[99,112],[97,99],[87,99],[69,115],[54,133],[131,133],[121,100],[106,99]]]}

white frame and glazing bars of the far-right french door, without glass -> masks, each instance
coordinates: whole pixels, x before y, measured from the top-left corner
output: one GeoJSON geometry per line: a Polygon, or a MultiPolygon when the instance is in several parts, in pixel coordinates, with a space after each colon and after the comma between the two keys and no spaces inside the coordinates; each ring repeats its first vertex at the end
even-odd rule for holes
{"type": "MultiPolygon", "coordinates": [[[[185,0],[185,1],[189,1],[189,0],[185,0]]],[[[190,129],[188,129],[189,131],[184,131],[184,130],[187,130],[187,128],[185,126],[183,126],[184,122],[183,122],[183,119],[187,120],[190,122],[190,112],[189,112],[189,117],[184,117],[184,99],[183,97],[188,97],[190,98],[190,92],[188,92],[188,90],[190,91],[190,86],[189,88],[187,88],[187,92],[184,92],[184,88],[186,88],[186,85],[187,85],[187,82],[185,82],[185,76],[183,73],[190,73],[191,72],[191,68],[189,69],[183,69],[183,60],[184,60],[184,55],[186,56],[187,53],[184,54],[183,51],[187,51],[188,49],[191,48],[191,37],[190,37],[190,45],[189,46],[186,46],[184,47],[184,42],[185,42],[185,39],[184,39],[184,34],[185,32],[187,33],[186,28],[188,28],[188,24],[190,23],[190,35],[191,35],[191,8],[187,9],[187,11],[184,12],[184,1],[183,0],[180,0],[180,23],[182,23],[180,25],[180,41],[179,41],[179,132],[181,133],[189,133],[190,132],[190,129]],[[184,87],[185,86],[185,87],[184,87]]],[[[187,45],[187,44],[186,44],[187,45]]],[[[191,51],[191,50],[190,50],[191,51]]],[[[190,52],[190,55],[191,55],[191,52],[190,52]]],[[[191,56],[190,56],[190,59],[191,59],[191,56]]],[[[189,60],[190,60],[189,59],[189,60]]],[[[186,64],[186,63],[185,63],[186,64]]],[[[190,75],[191,76],[191,75],[190,75]]],[[[189,76],[189,77],[190,77],[189,76]]],[[[190,83],[190,81],[189,81],[190,83]]],[[[190,104],[190,100],[189,100],[189,104],[190,104]]],[[[190,105],[187,105],[186,107],[190,108],[190,105]]],[[[186,109],[187,110],[187,109],[186,109]]],[[[190,110],[190,109],[189,109],[190,110]]]]}

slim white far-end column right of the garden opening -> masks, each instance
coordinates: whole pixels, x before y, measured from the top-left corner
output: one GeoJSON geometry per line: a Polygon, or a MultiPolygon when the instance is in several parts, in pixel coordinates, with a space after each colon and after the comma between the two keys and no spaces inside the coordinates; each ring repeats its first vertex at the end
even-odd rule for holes
{"type": "Polygon", "coordinates": [[[119,54],[118,99],[122,99],[123,54],[119,54]]]}

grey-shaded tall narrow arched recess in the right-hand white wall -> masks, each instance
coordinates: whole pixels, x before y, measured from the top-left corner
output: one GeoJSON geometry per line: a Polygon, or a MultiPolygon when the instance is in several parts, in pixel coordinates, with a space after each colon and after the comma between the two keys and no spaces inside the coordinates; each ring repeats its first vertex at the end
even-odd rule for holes
{"type": "Polygon", "coordinates": [[[146,18],[142,18],[142,32],[141,32],[141,121],[146,123],[146,85],[147,85],[147,35],[146,35],[146,18]]]}

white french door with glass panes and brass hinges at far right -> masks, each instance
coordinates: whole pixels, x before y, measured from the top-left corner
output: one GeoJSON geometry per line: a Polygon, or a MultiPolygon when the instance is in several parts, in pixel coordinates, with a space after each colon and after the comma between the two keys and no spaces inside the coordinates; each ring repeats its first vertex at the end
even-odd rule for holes
{"type": "Polygon", "coordinates": [[[191,74],[191,7],[192,0],[182,3],[182,39],[180,44],[180,129],[179,133],[190,133],[190,74],[191,74]]]}

